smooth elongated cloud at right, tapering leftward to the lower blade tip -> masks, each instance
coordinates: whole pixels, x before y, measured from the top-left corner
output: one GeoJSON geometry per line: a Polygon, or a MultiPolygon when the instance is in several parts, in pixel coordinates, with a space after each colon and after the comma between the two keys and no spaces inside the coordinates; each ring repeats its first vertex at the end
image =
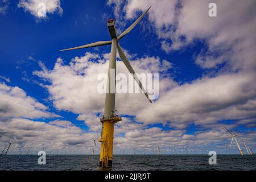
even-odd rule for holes
{"type": "Polygon", "coordinates": [[[137,118],[150,123],[172,121],[171,125],[185,127],[182,123],[199,125],[216,123],[221,119],[255,117],[255,73],[205,77],[166,92],[151,107],[139,111],[137,118]]]}

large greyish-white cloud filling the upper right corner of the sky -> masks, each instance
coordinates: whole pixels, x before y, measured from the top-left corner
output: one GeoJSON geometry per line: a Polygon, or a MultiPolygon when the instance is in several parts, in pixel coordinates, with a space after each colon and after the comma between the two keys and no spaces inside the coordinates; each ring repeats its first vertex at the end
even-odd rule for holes
{"type": "Polygon", "coordinates": [[[148,11],[149,20],[167,53],[201,39],[206,40],[208,49],[196,56],[196,64],[200,67],[216,68],[226,63],[224,68],[232,71],[255,70],[255,1],[214,1],[217,4],[217,17],[214,18],[208,15],[210,2],[129,0],[123,9],[115,6],[114,11],[119,11],[115,13],[117,19],[123,11],[126,19],[135,19],[137,11],[152,6],[148,11]]]}

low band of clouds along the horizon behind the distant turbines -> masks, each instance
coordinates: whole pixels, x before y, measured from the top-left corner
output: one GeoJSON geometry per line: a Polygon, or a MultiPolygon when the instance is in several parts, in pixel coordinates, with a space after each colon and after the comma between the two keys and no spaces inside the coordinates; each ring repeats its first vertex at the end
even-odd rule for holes
{"type": "MultiPolygon", "coordinates": [[[[128,120],[125,119],[127,122],[128,120]]],[[[57,123],[68,123],[68,121],[57,121],[57,123]]],[[[130,122],[130,121],[128,121],[130,122]]],[[[53,121],[53,123],[56,123],[53,121]]],[[[65,151],[79,152],[80,154],[90,154],[92,151],[92,138],[98,138],[100,133],[84,133],[79,127],[73,125],[61,126],[53,123],[45,123],[38,121],[30,121],[29,119],[14,118],[9,122],[0,122],[0,147],[5,147],[8,142],[14,142],[10,148],[10,154],[17,154],[19,150],[22,152],[28,149],[33,153],[37,153],[45,147],[47,154],[49,152],[57,152],[64,154],[65,151]]],[[[184,130],[168,130],[163,131],[159,127],[141,127],[138,125],[137,129],[129,129],[125,131],[125,136],[121,137],[115,134],[114,138],[114,154],[125,151],[125,154],[133,154],[133,148],[136,146],[137,154],[146,153],[156,154],[156,145],[162,148],[163,153],[176,152],[184,153],[184,146],[188,148],[188,151],[194,152],[203,149],[204,152],[207,150],[217,150],[220,148],[226,151],[230,143],[230,135],[226,131],[222,130],[220,125],[217,129],[212,131],[201,131],[194,135],[183,134],[184,130]],[[218,147],[214,147],[217,142],[218,147]],[[196,147],[195,147],[196,146],[196,147]],[[198,147],[201,146],[201,147],[198,147]]],[[[123,127],[122,123],[120,124],[123,127]]],[[[115,127],[116,131],[118,130],[115,127]]],[[[237,133],[238,142],[255,146],[255,133],[237,133]]],[[[237,154],[238,150],[236,146],[233,148],[233,154],[237,154]]],[[[96,143],[96,154],[100,152],[100,144],[96,143]]],[[[23,153],[24,154],[24,153],[23,153]]]]}

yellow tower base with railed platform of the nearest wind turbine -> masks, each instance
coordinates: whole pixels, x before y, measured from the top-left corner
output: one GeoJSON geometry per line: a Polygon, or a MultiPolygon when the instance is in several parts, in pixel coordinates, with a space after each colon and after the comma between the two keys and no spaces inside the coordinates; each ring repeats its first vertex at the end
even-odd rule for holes
{"type": "Polygon", "coordinates": [[[119,121],[122,121],[122,118],[118,117],[118,115],[108,119],[101,118],[101,138],[98,140],[101,142],[100,167],[112,167],[114,123],[119,121]]]}

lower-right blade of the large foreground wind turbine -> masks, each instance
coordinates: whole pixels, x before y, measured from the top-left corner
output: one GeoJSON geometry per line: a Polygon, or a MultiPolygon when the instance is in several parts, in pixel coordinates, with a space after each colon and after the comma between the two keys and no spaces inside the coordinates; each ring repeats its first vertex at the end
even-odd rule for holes
{"type": "Polygon", "coordinates": [[[119,56],[121,57],[123,63],[125,64],[126,68],[129,70],[129,72],[131,74],[133,74],[134,80],[137,81],[137,83],[139,84],[139,88],[141,88],[142,92],[145,94],[145,96],[147,97],[148,101],[150,101],[150,103],[152,103],[152,101],[150,100],[150,98],[148,97],[148,94],[146,92],[146,90],[143,88],[141,81],[139,80],[139,78],[137,77],[133,67],[131,67],[131,64],[129,63],[129,61],[127,60],[125,53],[123,52],[121,46],[119,43],[117,43],[117,49],[118,49],[118,53],[119,56]]]}

